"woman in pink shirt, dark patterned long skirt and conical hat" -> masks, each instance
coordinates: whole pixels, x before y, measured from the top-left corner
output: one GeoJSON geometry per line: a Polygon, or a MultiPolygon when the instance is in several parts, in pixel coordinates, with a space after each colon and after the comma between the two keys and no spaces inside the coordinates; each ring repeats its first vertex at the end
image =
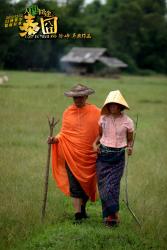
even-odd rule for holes
{"type": "Polygon", "coordinates": [[[132,154],[133,121],[123,113],[129,106],[119,90],[106,98],[99,120],[100,136],[93,148],[98,152],[96,173],[106,226],[119,223],[120,181],[125,167],[125,148],[132,154]]]}

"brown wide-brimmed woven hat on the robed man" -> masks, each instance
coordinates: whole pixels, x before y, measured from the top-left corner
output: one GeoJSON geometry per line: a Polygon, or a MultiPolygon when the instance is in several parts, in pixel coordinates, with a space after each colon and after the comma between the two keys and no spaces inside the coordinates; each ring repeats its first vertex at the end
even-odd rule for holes
{"type": "Polygon", "coordinates": [[[68,97],[77,97],[77,96],[88,96],[95,93],[95,91],[91,88],[88,88],[87,86],[84,86],[82,84],[77,84],[69,91],[66,91],[64,93],[65,96],[68,97]]]}

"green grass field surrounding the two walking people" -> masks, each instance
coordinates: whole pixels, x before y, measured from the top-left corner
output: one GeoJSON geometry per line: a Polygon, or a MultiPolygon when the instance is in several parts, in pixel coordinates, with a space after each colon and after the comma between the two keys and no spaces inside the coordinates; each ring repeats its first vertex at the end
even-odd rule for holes
{"type": "Polygon", "coordinates": [[[9,82],[0,86],[0,249],[167,249],[167,77],[122,76],[116,80],[5,73],[9,82]],[[63,92],[76,83],[96,90],[89,101],[99,107],[110,90],[120,89],[131,107],[129,116],[135,120],[139,115],[128,183],[130,204],[141,229],[122,201],[124,179],[121,224],[111,230],[102,225],[99,200],[89,203],[89,220],[73,225],[71,200],[56,188],[51,173],[46,220],[40,222],[47,115],[61,119],[72,101],[63,92]]]}

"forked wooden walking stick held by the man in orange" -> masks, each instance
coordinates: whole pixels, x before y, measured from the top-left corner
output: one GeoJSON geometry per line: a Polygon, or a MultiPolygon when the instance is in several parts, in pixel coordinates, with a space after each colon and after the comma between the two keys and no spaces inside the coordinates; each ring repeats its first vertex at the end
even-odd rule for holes
{"type": "MultiPolygon", "coordinates": [[[[49,129],[50,129],[49,136],[50,137],[52,137],[53,129],[57,123],[58,123],[58,120],[55,121],[54,117],[52,117],[52,120],[50,120],[48,117],[48,124],[49,124],[49,129]]],[[[47,201],[47,193],[48,193],[50,154],[51,154],[51,144],[48,144],[48,155],[47,155],[45,183],[44,183],[44,197],[43,197],[43,204],[42,204],[42,217],[41,217],[42,222],[43,222],[44,217],[45,217],[45,209],[46,209],[46,201],[47,201]]]]}

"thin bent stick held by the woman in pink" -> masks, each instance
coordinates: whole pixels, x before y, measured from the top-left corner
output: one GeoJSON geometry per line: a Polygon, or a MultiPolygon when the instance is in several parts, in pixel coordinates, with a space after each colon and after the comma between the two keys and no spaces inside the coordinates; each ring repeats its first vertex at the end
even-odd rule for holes
{"type": "MultiPolygon", "coordinates": [[[[136,138],[137,125],[138,125],[138,115],[137,115],[136,124],[135,124],[135,133],[134,133],[132,148],[134,147],[134,142],[135,142],[135,138],[136,138]]],[[[125,201],[124,202],[125,202],[128,210],[129,210],[129,212],[133,216],[134,220],[136,221],[136,223],[141,228],[141,223],[140,223],[139,219],[137,218],[137,216],[135,215],[135,213],[133,212],[133,210],[130,208],[130,205],[129,205],[129,198],[128,198],[128,162],[129,162],[129,156],[127,157],[127,161],[126,161],[126,165],[125,165],[125,201]]]]}

